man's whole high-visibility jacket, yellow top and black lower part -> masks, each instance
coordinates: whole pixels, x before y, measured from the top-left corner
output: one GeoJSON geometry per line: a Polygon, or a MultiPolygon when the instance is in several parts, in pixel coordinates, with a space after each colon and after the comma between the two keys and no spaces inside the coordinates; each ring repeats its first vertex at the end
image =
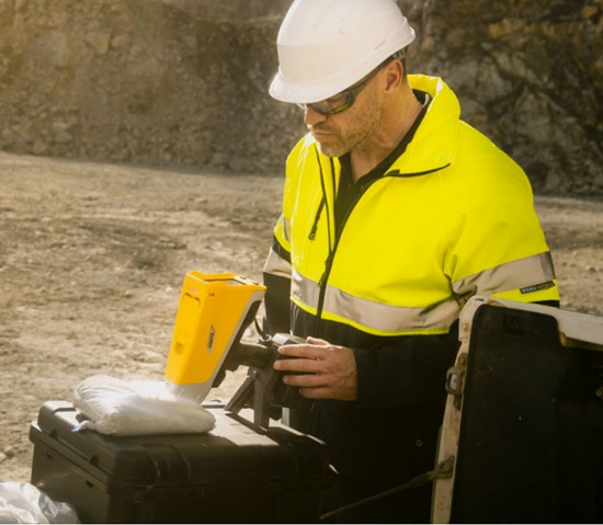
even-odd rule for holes
{"type": "Polygon", "coordinates": [[[441,79],[409,81],[431,98],[422,119],[339,231],[339,159],[311,135],[293,149],[264,267],[269,330],[321,336],[356,357],[359,401],[319,401],[297,426],[333,447],[342,476],[383,488],[433,465],[456,351],[447,333],[467,299],[559,299],[523,170],[460,119],[441,79]]]}

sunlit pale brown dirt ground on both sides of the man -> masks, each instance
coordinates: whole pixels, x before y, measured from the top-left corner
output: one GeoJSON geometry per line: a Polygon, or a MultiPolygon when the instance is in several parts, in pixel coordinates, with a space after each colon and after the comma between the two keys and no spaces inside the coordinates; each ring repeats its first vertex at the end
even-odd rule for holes
{"type": "MultiPolygon", "coordinates": [[[[0,481],[30,480],[45,401],[93,374],[162,378],[186,272],[261,278],[282,182],[0,153],[0,481]]],[[[603,202],[536,206],[561,306],[603,315],[603,202]]]]}

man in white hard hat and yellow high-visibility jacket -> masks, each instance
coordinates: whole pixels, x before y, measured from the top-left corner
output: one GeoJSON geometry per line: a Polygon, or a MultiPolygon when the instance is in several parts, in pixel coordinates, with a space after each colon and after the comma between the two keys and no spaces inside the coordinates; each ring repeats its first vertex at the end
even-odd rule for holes
{"type": "MultiPolygon", "coordinates": [[[[270,93],[304,110],[264,267],[291,424],[331,447],[345,505],[434,466],[445,374],[467,299],[558,304],[530,183],[459,119],[439,78],[407,75],[395,0],[295,0],[270,93]]],[[[493,414],[493,416],[496,416],[493,414]]],[[[431,487],[346,522],[428,522],[431,487]]]]}

